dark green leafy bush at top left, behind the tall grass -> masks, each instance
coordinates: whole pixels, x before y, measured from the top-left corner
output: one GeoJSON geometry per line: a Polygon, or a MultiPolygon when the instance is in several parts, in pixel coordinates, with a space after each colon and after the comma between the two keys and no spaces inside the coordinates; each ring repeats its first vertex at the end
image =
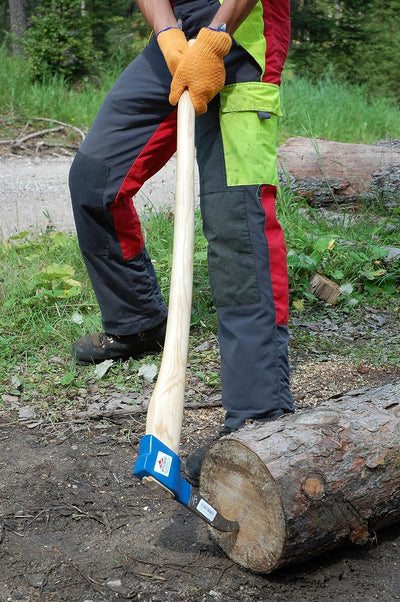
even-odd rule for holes
{"type": "Polygon", "coordinates": [[[150,28],[135,3],[41,0],[29,11],[22,46],[31,74],[73,82],[107,69],[124,69],[143,49],[150,28]],[[84,8],[83,8],[84,6],[84,8]]]}

